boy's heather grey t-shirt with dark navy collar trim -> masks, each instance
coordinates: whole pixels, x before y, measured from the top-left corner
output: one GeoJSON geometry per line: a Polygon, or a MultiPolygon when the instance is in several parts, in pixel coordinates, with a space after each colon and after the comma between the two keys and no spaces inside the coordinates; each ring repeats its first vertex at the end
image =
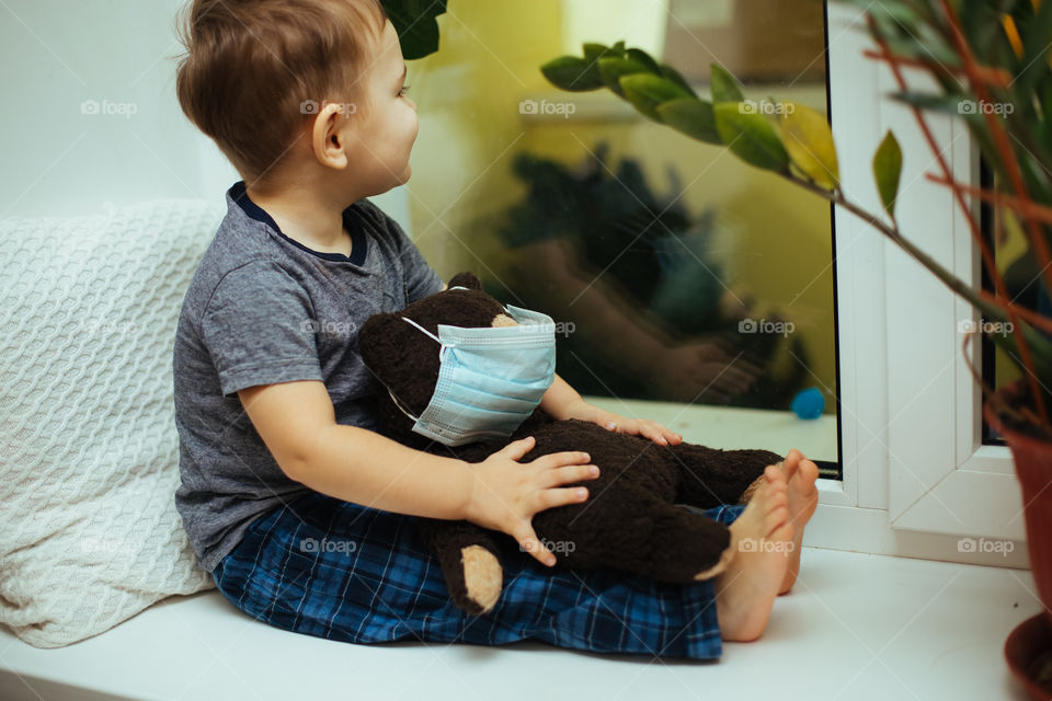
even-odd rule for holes
{"type": "Polygon", "coordinates": [[[358,329],[404,309],[442,280],[401,228],[366,199],[343,212],[352,253],[311,251],[281,232],[238,183],[183,300],[175,334],[175,507],[211,572],[249,525],[308,494],[255,432],[238,390],[321,380],[336,423],[375,429],[378,383],[358,329]]]}

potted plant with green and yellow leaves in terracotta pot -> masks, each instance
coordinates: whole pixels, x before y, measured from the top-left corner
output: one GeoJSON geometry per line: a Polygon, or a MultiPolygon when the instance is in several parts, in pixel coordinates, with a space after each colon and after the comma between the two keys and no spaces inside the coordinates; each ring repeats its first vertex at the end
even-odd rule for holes
{"type": "MultiPolygon", "coordinates": [[[[895,199],[902,151],[890,131],[872,162],[884,208],[878,215],[841,189],[836,148],[824,115],[792,103],[780,103],[784,108],[775,110],[774,117],[761,114],[751,108],[756,103],[745,99],[734,77],[718,66],[712,67],[709,100],[700,97],[675,68],[624,43],[585,44],[582,56],[556,58],[541,71],[562,90],[610,90],[647,117],[693,139],[725,146],[750,164],[851,211],[973,304],[985,322],[999,324],[1004,333],[988,336],[1019,368],[1022,379],[994,390],[975,377],[983,383],[984,414],[1013,453],[1031,567],[1044,606],[1043,616],[1017,629],[1006,653],[1014,669],[1019,664],[1040,666],[1038,651],[1027,653],[1031,658],[1026,662],[1011,655],[1025,647],[1019,645],[1020,635],[1033,642],[1052,640],[1052,311],[1048,303],[1052,289],[1052,2],[842,1],[866,10],[876,47],[867,55],[887,64],[899,87],[893,97],[916,116],[938,171],[928,177],[951,188],[982,254],[992,292],[958,278],[900,230],[895,199]],[[927,73],[936,90],[911,89],[905,68],[927,73]],[[976,187],[953,179],[928,126],[926,115],[931,113],[964,120],[993,172],[992,185],[976,187]],[[1036,303],[1022,304],[1007,295],[972,210],[974,199],[996,207],[999,216],[1015,220],[1026,234],[1041,275],[1036,303]],[[1030,628],[1022,631],[1026,625],[1030,628]]],[[[981,329],[988,327],[984,323],[981,329]]],[[[1048,669],[1049,663],[1044,664],[1048,669]]],[[[1050,678],[1037,667],[1021,671],[1031,679],[1050,678]]],[[[1043,698],[1052,691],[1030,688],[1043,698]]]]}

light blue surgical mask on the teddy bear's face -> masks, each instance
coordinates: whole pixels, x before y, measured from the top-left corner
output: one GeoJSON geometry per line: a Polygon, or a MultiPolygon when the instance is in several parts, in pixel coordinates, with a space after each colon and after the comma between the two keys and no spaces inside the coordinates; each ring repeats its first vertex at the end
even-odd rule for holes
{"type": "MultiPolygon", "coordinates": [[[[556,377],[556,324],[551,317],[507,304],[517,326],[480,329],[438,324],[438,382],[413,432],[446,446],[515,433],[533,414],[556,377]]],[[[390,393],[390,389],[388,389],[390,393]]]]}

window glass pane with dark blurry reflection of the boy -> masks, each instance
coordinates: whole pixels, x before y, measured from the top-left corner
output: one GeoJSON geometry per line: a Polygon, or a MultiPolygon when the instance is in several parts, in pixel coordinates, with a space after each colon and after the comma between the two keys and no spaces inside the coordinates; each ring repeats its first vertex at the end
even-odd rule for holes
{"type": "Polygon", "coordinates": [[[771,118],[780,100],[825,113],[823,2],[458,0],[441,24],[410,66],[409,183],[439,273],[550,314],[559,375],[596,403],[714,447],[797,447],[838,476],[828,205],[539,71],[625,39],[702,96],[719,62],[771,118]],[[790,409],[804,390],[816,420],[790,409]]]}

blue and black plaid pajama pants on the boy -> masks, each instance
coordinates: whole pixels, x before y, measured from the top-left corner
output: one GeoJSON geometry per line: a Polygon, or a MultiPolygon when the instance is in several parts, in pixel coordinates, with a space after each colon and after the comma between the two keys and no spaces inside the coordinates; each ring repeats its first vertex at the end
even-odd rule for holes
{"type": "MultiPolygon", "coordinates": [[[[705,514],[730,525],[743,508],[705,514]]],[[[468,616],[450,601],[413,517],[312,493],[256,519],[213,576],[255,619],[351,643],[535,640],[694,659],[722,652],[711,581],[674,585],[607,570],[549,570],[514,547],[502,563],[496,606],[468,616]]]]}

